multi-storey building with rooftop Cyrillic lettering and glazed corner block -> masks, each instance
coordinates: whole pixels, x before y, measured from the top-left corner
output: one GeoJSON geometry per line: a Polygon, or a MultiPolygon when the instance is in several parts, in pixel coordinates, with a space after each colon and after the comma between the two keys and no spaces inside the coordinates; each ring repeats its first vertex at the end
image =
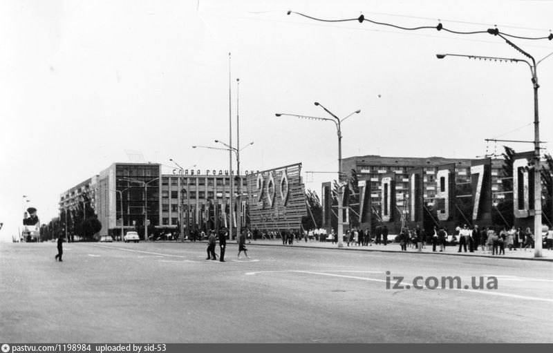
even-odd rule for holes
{"type": "MultiPolygon", "coordinates": [[[[144,225],[148,225],[149,236],[171,233],[176,238],[189,235],[191,230],[229,227],[231,182],[236,211],[238,180],[247,193],[245,175],[236,178],[228,171],[176,169],[164,174],[161,164],[114,163],[62,193],[59,211],[61,214],[75,209],[79,202],[90,202],[102,223],[98,237],[118,238],[132,230],[143,238],[144,225]]],[[[240,202],[243,225],[248,221],[246,200],[240,202]]],[[[232,227],[236,227],[236,216],[232,227]]]]}

